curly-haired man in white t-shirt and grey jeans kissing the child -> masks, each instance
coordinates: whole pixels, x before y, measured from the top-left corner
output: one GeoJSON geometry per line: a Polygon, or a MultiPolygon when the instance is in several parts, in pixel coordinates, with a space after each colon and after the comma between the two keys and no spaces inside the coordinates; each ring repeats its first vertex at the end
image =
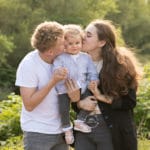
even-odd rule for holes
{"type": "Polygon", "coordinates": [[[66,78],[67,70],[62,67],[52,72],[53,60],[64,50],[63,34],[63,26],[57,22],[39,24],[31,38],[35,50],[24,57],[17,69],[25,150],[68,150],[54,88],[66,78]]]}

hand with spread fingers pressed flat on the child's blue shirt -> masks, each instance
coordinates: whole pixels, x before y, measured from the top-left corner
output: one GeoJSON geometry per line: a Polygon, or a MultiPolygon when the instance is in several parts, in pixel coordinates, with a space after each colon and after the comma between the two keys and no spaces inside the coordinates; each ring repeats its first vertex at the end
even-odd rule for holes
{"type": "Polygon", "coordinates": [[[65,85],[71,102],[78,102],[80,100],[80,88],[78,84],[72,79],[67,79],[65,85]]]}

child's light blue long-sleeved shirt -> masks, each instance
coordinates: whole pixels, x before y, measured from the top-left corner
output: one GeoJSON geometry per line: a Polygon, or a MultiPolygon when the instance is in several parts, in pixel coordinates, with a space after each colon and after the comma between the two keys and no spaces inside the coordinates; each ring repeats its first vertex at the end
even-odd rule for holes
{"type": "MultiPolygon", "coordinates": [[[[81,88],[81,93],[85,92],[90,81],[98,81],[96,67],[87,53],[79,52],[76,55],[63,53],[55,58],[53,67],[53,70],[59,67],[66,67],[68,69],[68,78],[77,81],[81,88]]],[[[67,93],[64,83],[65,81],[60,81],[56,85],[59,94],[67,93]]]]}

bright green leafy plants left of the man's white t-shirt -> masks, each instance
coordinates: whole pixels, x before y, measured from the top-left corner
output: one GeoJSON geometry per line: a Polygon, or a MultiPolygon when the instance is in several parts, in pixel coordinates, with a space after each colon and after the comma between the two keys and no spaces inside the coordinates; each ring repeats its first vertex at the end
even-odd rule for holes
{"type": "Polygon", "coordinates": [[[21,97],[14,93],[0,102],[0,141],[22,134],[20,128],[21,97]]]}

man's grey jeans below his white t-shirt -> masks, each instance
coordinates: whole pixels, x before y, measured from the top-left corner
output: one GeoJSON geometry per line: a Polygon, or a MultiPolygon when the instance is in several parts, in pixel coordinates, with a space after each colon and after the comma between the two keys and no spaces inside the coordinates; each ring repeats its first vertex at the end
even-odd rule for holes
{"type": "Polygon", "coordinates": [[[24,150],[69,150],[62,134],[24,132],[24,150]]]}

